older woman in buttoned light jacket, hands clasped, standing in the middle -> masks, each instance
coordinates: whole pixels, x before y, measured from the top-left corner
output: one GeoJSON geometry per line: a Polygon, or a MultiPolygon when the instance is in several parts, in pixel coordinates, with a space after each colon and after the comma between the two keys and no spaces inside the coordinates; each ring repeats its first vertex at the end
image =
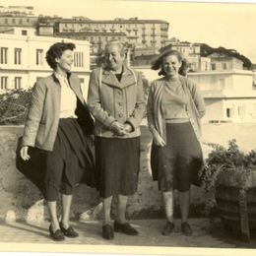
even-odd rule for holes
{"type": "Polygon", "coordinates": [[[109,41],[104,60],[105,65],[91,74],[88,104],[96,119],[96,185],[103,198],[102,236],[113,239],[113,231],[138,234],[126,221],[126,205],[138,185],[140,122],[146,103],[141,75],[124,63],[124,45],[109,41]],[[112,227],[113,196],[118,198],[118,216],[112,227]]]}

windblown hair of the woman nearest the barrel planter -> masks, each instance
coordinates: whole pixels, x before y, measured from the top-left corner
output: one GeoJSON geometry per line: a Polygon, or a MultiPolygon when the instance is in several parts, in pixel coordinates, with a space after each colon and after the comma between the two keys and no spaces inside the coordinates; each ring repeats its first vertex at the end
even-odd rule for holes
{"type": "Polygon", "coordinates": [[[165,76],[165,72],[162,68],[162,61],[165,57],[168,57],[170,55],[174,55],[177,57],[178,61],[181,63],[181,67],[179,68],[178,73],[182,76],[186,76],[186,71],[187,71],[187,62],[186,60],[183,58],[182,54],[174,49],[168,49],[166,51],[163,51],[160,53],[160,55],[158,56],[158,58],[153,62],[152,64],[152,69],[153,70],[159,70],[159,75],[160,76],[165,76]]]}

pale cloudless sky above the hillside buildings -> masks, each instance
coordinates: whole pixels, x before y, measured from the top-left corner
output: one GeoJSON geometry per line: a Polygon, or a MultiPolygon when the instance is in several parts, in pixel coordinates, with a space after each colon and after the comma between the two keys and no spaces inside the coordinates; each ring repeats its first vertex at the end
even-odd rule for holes
{"type": "Polygon", "coordinates": [[[165,20],[169,23],[169,37],[205,42],[212,47],[236,49],[256,63],[256,1],[246,1],[251,4],[212,2],[219,3],[177,3],[167,0],[0,0],[4,6],[34,6],[36,14],[56,14],[65,18],[85,16],[92,20],[112,20],[117,17],[138,17],[165,20]]]}

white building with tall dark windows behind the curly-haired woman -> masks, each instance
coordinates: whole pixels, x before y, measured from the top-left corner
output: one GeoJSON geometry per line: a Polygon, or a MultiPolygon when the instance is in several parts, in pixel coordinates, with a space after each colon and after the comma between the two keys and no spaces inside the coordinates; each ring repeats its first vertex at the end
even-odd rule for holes
{"type": "Polygon", "coordinates": [[[90,43],[58,37],[5,34],[0,36],[0,94],[31,88],[34,83],[52,73],[45,60],[47,49],[58,41],[72,41],[74,50],[73,72],[81,79],[87,95],[90,76],[90,43]]]}

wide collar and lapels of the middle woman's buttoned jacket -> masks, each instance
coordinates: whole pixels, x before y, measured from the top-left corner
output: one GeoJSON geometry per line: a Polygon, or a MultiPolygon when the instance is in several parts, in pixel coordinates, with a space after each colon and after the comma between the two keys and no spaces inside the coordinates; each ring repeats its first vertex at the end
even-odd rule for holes
{"type": "Polygon", "coordinates": [[[106,84],[110,87],[124,89],[131,85],[134,85],[136,81],[133,72],[123,65],[123,74],[120,82],[111,70],[103,69],[101,83],[106,84]]]}

